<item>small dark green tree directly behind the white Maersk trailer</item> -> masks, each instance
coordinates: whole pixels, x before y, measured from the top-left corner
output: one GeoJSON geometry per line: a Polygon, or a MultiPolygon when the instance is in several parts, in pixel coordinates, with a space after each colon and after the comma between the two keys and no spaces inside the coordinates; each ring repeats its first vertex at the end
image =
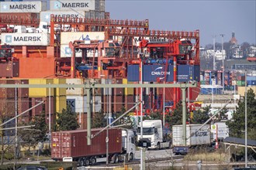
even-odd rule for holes
{"type": "Polygon", "coordinates": [[[202,110],[195,110],[191,119],[192,124],[204,124],[209,119],[209,106],[203,107],[202,110]]]}

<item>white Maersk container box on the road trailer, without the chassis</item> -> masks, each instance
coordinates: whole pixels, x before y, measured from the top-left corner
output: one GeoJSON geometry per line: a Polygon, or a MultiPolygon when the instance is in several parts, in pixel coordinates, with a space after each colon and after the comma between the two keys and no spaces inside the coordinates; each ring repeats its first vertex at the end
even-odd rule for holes
{"type": "MultiPolygon", "coordinates": [[[[190,134],[199,129],[202,124],[186,124],[186,145],[209,145],[211,143],[211,134],[209,124],[204,125],[200,131],[196,132],[191,138],[190,134]]],[[[172,145],[182,146],[182,125],[172,126],[172,145]]]]}

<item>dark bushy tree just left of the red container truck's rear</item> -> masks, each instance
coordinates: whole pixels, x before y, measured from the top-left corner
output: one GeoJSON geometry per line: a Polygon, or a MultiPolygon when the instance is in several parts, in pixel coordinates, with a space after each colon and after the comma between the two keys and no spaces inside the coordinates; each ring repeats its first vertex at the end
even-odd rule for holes
{"type": "Polygon", "coordinates": [[[28,146],[28,151],[30,152],[30,147],[35,148],[39,142],[43,142],[46,139],[48,126],[46,124],[45,114],[33,117],[33,121],[30,121],[29,125],[34,125],[35,127],[27,130],[19,129],[18,134],[19,138],[22,139],[22,145],[28,146]]]}

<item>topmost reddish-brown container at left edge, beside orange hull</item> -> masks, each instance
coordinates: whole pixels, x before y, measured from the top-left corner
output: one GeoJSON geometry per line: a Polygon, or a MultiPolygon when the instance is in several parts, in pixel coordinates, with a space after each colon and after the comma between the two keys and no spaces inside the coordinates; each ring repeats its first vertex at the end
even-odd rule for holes
{"type": "Polygon", "coordinates": [[[19,61],[0,63],[0,77],[12,78],[19,76],[19,61]]]}

